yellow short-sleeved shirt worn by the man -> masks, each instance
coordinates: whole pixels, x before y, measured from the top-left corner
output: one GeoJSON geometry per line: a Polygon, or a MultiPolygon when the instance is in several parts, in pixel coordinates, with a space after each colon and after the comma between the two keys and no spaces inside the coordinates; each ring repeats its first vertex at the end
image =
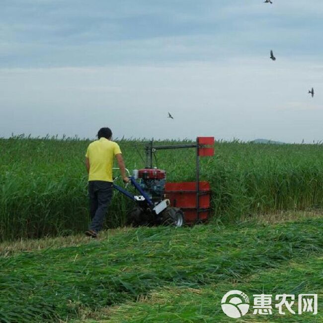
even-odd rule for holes
{"type": "Polygon", "coordinates": [[[112,182],[113,158],[117,154],[121,154],[119,145],[106,138],[90,143],[85,155],[90,162],[88,180],[112,182]]]}

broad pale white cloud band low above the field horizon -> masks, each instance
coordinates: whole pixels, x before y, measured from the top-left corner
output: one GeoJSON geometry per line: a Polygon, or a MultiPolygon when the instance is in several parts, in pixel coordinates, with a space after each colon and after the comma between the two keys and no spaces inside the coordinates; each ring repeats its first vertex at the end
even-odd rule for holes
{"type": "MultiPolygon", "coordinates": [[[[315,66],[314,79],[321,75],[315,66]]],[[[315,84],[312,99],[307,75],[306,62],[273,63],[267,58],[2,69],[0,135],[93,137],[107,124],[117,137],[311,141],[321,136],[323,83],[315,84]],[[169,122],[168,111],[175,120],[169,122]]]]}

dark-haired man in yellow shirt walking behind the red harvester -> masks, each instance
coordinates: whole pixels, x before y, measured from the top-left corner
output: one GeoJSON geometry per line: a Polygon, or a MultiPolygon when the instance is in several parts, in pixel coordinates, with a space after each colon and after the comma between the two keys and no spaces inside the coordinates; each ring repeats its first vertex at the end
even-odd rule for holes
{"type": "Polygon", "coordinates": [[[101,128],[97,133],[98,140],[89,144],[85,155],[91,216],[91,224],[85,234],[92,238],[97,238],[98,232],[102,230],[108,204],[112,197],[114,157],[118,162],[123,181],[125,183],[129,181],[120,147],[111,141],[111,137],[112,131],[109,128],[101,128]]]}

